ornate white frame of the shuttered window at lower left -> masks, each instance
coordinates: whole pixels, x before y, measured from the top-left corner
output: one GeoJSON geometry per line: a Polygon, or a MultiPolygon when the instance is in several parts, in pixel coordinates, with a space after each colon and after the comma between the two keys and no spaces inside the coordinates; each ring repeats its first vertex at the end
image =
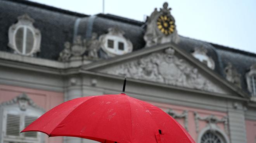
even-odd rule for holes
{"type": "MultiPolygon", "coordinates": [[[[7,128],[7,114],[20,116],[20,131],[25,128],[25,116],[40,117],[44,113],[42,108],[33,103],[26,94],[21,94],[16,98],[0,104],[0,143],[18,142],[18,143],[43,143],[44,134],[37,132],[37,138],[25,136],[24,133],[15,135],[6,135],[7,128]],[[19,100],[23,98],[26,100],[26,104],[22,104],[19,100]]],[[[20,132],[19,131],[19,132],[20,132]]]]}

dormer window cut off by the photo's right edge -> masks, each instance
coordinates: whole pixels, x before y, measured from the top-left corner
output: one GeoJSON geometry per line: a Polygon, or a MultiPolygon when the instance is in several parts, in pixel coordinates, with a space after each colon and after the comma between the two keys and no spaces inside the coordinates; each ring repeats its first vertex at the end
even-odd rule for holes
{"type": "Polygon", "coordinates": [[[256,98],[256,64],[250,67],[246,74],[247,87],[251,95],[256,98]]]}

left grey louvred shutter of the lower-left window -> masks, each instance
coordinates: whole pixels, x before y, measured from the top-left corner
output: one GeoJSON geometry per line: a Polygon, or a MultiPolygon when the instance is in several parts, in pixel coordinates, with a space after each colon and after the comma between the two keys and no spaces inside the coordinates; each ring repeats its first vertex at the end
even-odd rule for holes
{"type": "Polygon", "coordinates": [[[20,116],[7,114],[6,135],[19,136],[20,116]]]}

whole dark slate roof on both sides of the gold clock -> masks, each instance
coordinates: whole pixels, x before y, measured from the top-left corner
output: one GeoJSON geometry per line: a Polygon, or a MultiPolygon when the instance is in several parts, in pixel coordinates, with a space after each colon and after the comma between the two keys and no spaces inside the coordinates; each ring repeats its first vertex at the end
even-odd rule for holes
{"type": "MultiPolygon", "coordinates": [[[[92,32],[98,35],[106,34],[107,29],[114,26],[118,26],[125,32],[124,36],[131,40],[133,50],[139,50],[145,46],[144,22],[110,14],[90,16],[26,0],[0,0],[1,51],[12,52],[7,46],[8,29],[17,22],[18,16],[25,13],[35,19],[34,26],[41,31],[41,52],[36,56],[43,59],[57,60],[59,53],[64,49],[64,42],[72,42],[75,35],[90,38],[92,32]]],[[[248,92],[245,74],[249,67],[256,63],[256,54],[182,36],[179,45],[189,53],[193,52],[195,47],[206,48],[208,56],[215,62],[214,71],[223,77],[225,77],[223,70],[227,63],[232,63],[241,74],[242,89],[248,92]]]]}

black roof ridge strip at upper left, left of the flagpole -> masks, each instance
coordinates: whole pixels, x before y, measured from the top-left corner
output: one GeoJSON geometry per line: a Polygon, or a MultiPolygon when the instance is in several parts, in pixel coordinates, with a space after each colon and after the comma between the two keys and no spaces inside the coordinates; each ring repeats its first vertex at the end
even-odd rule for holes
{"type": "Polygon", "coordinates": [[[88,16],[90,16],[90,15],[86,15],[86,14],[83,14],[83,13],[72,12],[72,11],[69,11],[69,10],[64,10],[62,8],[57,8],[57,7],[45,5],[45,4],[42,4],[42,3],[31,2],[31,1],[28,1],[28,0],[5,0],[5,1],[10,1],[10,2],[14,2],[14,3],[22,3],[22,4],[25,4],[25,5],[39,7],[39,8],[51,10],[51,11],[54,11],[54,12],[64,13],[64,14],[67,14],[67,15],[74,15],[74,16],[77,16],[77,17],[88,17],[88,16]]]}

